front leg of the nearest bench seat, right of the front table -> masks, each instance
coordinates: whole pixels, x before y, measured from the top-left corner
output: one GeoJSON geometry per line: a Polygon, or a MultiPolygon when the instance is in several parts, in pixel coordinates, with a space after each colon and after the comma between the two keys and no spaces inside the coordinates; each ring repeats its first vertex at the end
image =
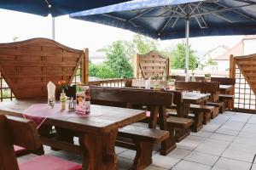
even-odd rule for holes
{"type": "Polygon", "coordinates": [[[141,170],[152,163],[154,143],[148,143],[141,140],[134,140],[134,143],[137,146],[137,152],[131,169],[141,170]]]}

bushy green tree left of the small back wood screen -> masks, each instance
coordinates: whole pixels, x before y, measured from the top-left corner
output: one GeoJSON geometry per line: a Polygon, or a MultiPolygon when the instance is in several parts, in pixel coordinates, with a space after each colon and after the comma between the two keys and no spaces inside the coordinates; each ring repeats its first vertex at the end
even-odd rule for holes
{"type": "Polygon", "coordinates": [[[116,41],[107,50],[106,65],[116,74],[116,77],[133,77],[133,69],[124,42],[116,41]]]}

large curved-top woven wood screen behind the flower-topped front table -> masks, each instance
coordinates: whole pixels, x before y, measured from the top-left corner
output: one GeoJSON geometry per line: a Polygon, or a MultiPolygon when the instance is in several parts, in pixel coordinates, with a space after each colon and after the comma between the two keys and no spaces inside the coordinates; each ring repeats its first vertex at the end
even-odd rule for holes
{"type": "Polygon", "coordinates": [[[1,43],[0,71],[17,99],[45,98],[49,81],[72,83],[84,56],[83,50],[46,38],[1,43]]]}

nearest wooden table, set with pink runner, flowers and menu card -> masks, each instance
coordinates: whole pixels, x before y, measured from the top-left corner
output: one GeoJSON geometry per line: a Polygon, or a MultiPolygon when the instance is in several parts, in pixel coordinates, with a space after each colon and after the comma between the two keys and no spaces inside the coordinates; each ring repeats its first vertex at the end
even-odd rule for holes
{"type": "MultiPolygon", "coordinates": [[[[3,102],[0,105],[0,113],[21,116],[22,112],[34,103],[38,103],[38,101],[14,100],[10,102],[3,102]]],[[[84,155],[84,169],[117,169],[117,158],[114,151],[114,144],[118,128],[143,120],[146,118],[145,111],[102,105],[91,105],[90,111],[97,113],[101,112],[102,116],[60,116],[47,118],[44,124],[73,130],[80,134],[79,143],[81,145],[80,150],[84,155]]],[[[54,144],[50,143],[49,140],[50,139],[44,139],[47,144],[54,144]]]]}

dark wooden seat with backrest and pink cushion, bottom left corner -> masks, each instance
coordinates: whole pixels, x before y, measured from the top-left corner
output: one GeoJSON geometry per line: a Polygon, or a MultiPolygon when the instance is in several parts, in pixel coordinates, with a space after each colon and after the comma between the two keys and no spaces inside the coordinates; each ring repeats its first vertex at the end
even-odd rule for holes
{"type": "Polygon", "coordinates": [[[80,170],[82,167],[71,161],[54,156],[37,156],[18,165],[14,144],[28,150],[42,147],[37,127],[32,121],[14,116],[0,115],[0,169],[1,170],[80,170]]]}

